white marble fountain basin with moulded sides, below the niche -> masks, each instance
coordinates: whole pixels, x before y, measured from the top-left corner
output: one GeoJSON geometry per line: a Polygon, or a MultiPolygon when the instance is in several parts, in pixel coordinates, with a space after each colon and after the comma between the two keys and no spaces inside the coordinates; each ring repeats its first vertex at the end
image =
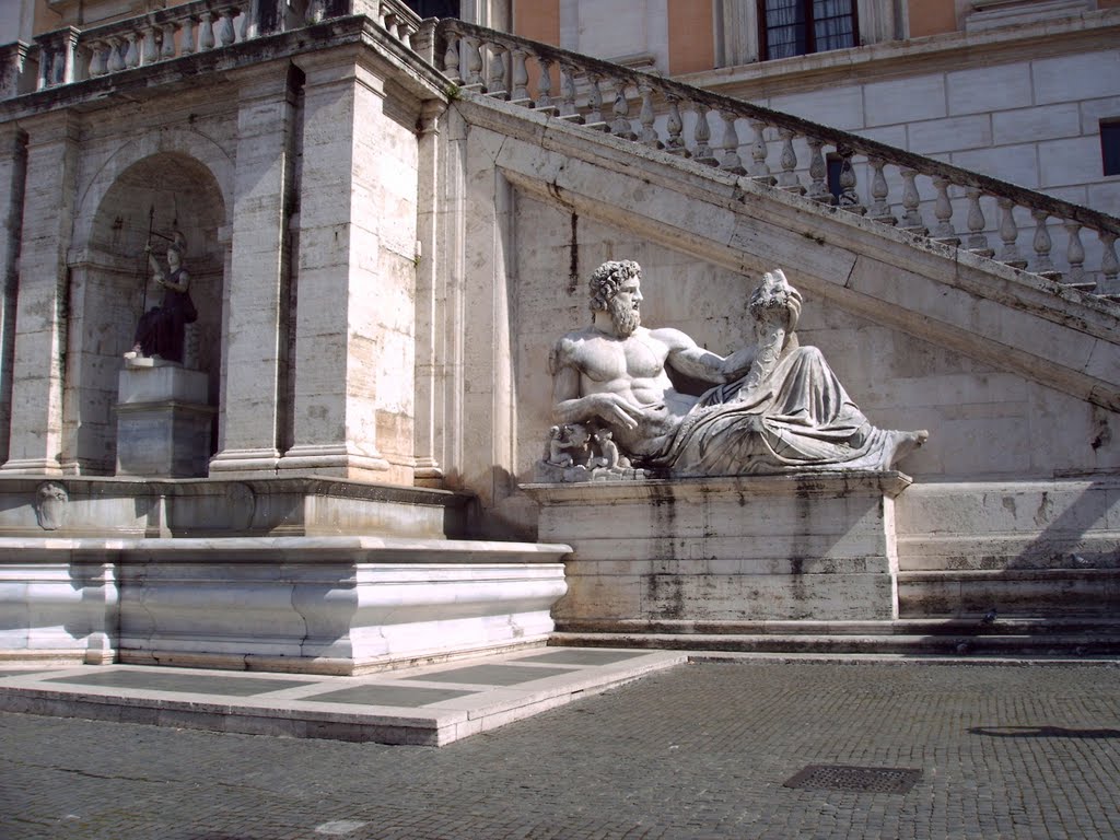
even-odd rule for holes
{"type": "Polygon", "coordinates": [[[0,660],[363,671],[543,644],[567,545],[0,539],[0,660]]]}

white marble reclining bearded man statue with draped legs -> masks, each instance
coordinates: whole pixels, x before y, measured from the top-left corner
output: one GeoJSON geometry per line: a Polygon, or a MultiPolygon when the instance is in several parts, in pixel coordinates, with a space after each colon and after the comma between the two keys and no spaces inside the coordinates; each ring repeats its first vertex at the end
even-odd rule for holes
{"type": "Polygon", "coordinates": [[[678,329],[643,327],[641,280],[636,262],[600,265],[591,326],[563,336],[549,358],[556,421],[585,424],[592,438],[608,431],[635,477],[884,470],[927,439],[871,426],[821,352],[800,346],[802,297],[781,270],[750,297],[754,340],[729,356],[678,329]],[[609,324],[596,325],[599,312],[609,324]],[[713,388],[681,393],[670,368],[713,388]]]}

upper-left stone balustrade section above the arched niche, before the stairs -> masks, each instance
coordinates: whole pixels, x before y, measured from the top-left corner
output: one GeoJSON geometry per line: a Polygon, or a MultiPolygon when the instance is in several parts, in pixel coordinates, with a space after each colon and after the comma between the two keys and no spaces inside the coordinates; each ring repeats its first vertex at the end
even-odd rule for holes
{"type": "Polygon", "coordinates": [[[38,36],[31,46],[0,46],[0,99],[352,15],[370,17],[405,46],[420,28],[420,18],[401,0],[194,0],[90,29],[58,29],[38,36]],[[34,84],[24,77],[31,66],[38,74],[34,84]]]}

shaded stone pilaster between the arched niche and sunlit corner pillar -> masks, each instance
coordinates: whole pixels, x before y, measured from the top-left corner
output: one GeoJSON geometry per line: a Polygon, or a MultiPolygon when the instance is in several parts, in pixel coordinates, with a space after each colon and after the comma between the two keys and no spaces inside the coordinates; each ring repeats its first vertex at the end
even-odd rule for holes
{"type": "Polygon", "coordinates": [[[287,375],[287,198],[295,85],[289,67],[239,74],[237,162],[223,326],[221,440],[211,475],[272,475],[287,375]]]}

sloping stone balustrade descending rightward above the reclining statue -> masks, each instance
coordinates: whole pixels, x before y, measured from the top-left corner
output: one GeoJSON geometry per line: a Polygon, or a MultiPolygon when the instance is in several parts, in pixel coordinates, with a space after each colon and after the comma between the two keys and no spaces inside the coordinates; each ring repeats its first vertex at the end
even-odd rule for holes
{"type": "Polygon", "coordinates": [[[1120,218],[792,114],[457,19],[437,25],[436,58],[444,74],[464,90],[692,158],[776,189],[808,194],[823,204],[980,256],[996,258],[988,242],[989,234],[996,233],[1000,262],[1021,270],[1029,264],[1032,272],[1083,291],[1120,295],[1116,250],[1120,218]],[[529,90],[531,76],[535,76],[535,92],[529,90]],[[553,90],[557,83],[559,91],[553,90]],[[629,115],[632,103],[637,104],[637,124],[629,115]],[[696,116],[690,138],[684,136],[682,110],[696,116]],[[721,122],[716,143],[708,121],[711,112],[721,122]],[[750,131],[749,142],[740,140],[739,121],[750,131]],[[808,167],[799,159],[795,141],[803,155],[808,147],[808,167]],[[771,157],[772,143],[780,149],[776,159],[771,157]],[[747,162],[740,155],[743,147],[748,149],[747,162]],[[840,164],[836,194],[828,184],[825,147],[834,149],[829,157],[840,164]],[[857,157],[861,158],[858,162],[857,157]],[[870,174],[867,204],[857,192],[858,170],[870,174]],[[900,186],[897,207],[890,202],[892,185],[900,186]],[[1029,261],[1019,246],[1017,208],[1034,220],[1029,261]],[[927,223],[931,211],[932,227],[927,223]],[[953,226],[954,215],[964,216],[963,228],[953,226]],[[997,218],[998,224],[990,223],[997,218]],[[1051,236],[1057,225],[1066,234],[1062,254],[1054,252],[1051,236]],[[1095,233],[1096,241],[1083,242],[1083,230],[1095,233]],[[1093,246],[1095,252],[1089,253],[1093,246]]]}

